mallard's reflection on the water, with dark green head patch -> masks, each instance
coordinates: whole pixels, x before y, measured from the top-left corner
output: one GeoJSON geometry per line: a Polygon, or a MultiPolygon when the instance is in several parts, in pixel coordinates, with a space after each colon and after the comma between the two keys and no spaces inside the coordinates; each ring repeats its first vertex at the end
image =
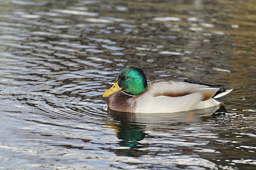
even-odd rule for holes
{"type": "MultiPolygon", "coordinates": [[[[140,141],[146,137],[146,130],[158,131],[159,127],[170,130],[170,127],[188,124],[190,122],[203,122],[226,113],[224,106],[198,109],[190,112],[177,113],[127,113],[108,109],[108,114],[119,124],[112,124],[115,135],[121,139],[119,146],[128,147],[115,150],[118,155],[143,155],[138,148],[145,147],[140,141]]],[[[145,153],[144,153],[145,154],[145,153]]]]}

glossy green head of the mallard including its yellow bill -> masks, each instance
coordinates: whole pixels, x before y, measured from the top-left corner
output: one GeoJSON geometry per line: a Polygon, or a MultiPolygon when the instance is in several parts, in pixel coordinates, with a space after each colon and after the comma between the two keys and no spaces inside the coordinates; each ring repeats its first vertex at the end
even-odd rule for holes
{"type": "Polygon", "coordinates": [[[137,96],[147,88],[146,75],[137,67],[127,67],[120,71],[115,84],[102,97],[110,96],[119,90],[137,96]]]}

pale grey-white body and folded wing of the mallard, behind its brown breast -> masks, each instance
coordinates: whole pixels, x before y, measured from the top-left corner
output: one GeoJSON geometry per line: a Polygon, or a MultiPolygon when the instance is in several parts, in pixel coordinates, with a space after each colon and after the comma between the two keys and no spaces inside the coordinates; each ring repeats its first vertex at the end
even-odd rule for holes
{"type": "Polygon", "coordinates": [[[220,104],[212,98],[218,90],[187,82],[158,81],[148,83],[146,92],[129,100],[136,101],[137,113],[182,112],[220,104]]]}

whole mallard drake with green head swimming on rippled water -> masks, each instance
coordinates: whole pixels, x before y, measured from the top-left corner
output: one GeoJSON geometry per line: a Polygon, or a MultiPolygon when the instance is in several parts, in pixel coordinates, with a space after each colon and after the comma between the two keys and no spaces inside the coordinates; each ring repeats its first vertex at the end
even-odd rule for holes
{"type": "Polygon", "coordinates": [[[102,97],[108,108],[128,113],[174,113],[220,105],[232,89],[180,80],[153,80],[138,67],[122,69],[114,85],[102,97]]]}

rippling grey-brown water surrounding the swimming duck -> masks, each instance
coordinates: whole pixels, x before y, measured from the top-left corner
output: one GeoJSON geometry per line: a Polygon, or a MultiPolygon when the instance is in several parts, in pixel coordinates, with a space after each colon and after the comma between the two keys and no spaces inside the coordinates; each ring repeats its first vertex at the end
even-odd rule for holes
{"type": "Polygon", "coordinates": [[[1,169],[255,169],[255,7],[0,1],[1,169]],[[126,66],[234,90],[193,114],[110,112],[126,66]]]}

